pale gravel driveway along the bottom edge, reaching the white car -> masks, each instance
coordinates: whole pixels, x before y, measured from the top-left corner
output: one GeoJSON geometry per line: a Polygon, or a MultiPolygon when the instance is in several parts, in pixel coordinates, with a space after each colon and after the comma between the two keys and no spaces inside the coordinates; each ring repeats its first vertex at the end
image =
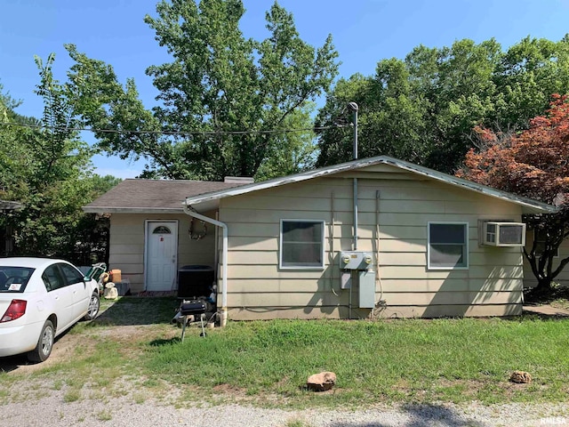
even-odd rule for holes
{"type": "MultiPolygon", "coordinates": [[[[113,326],[116,337],[144,334],[148,326],[113,326]],[[142,332],[140,332],[142,331],[142,332]]],[[[103,333],[99,329],[98,333],[103,333]]],[[[175,331],[178,334],[178,331],[175,331]]],[[[119,397],[93,398],[89,387],[75,401],[68,401],[67,386],[59,390],[41,380],[27,381],[37,369],[49,368],[68,357],[80,335],[65,335],[52,356],[39,365],[0,362],[0,371],[17,375],[23,382],[12,383],[10,390],[0,386],[0,427],[22,426],[101,426],[109,427],[490,427],[490,426],[567,426],[569,403],[510,404],[483,406],[441,404],[405,407],[362,407],[357,410],[286,410],[250,407],[239,404],[212,406],[211,403],[180,402],[177,391],[167,397],[144,395],[145,390],[124,391],[119,397]],[[22,386],[25,384],[25,386],[22,386]],[[137,395],[139,396],[137,398],[137,395]],[[110,403],[106,403],[110,402],[110,403]],[[181,405],[180,405],[181,404],[181,405]]],[[[14,359],[17,361],[17,359],[14,359]]],[[[56,375],[56,374],[54,374],[56,375]]],[[[51,378],[53,381],[53,378],[51,378]]],[[[7,382],[9,384],[9,382],[7,382]]],[[[116,394],[116,393],[114,393],[116,394]]],[[[233,400],[229,400],[233,401],[233,400]]],[[[568,399],[569,402],[569,399],[568,399]]]]}

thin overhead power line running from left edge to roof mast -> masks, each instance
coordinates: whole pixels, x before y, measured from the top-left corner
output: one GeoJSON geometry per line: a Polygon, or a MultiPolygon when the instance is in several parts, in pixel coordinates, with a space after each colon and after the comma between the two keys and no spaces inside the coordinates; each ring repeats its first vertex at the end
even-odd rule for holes
{"type": "Polygon", "coordinates": [[[343,127],[344,125],[332,125],[332,126],[315,126],[303,129],[271,129],[266,131],[210,131],[210,132],[197,132],[197,131],[129,131],[124,129],[96,129],[92,127],[68,127],[68,126],[50,126],[50,125],[29,125],[15,122],[0,122],[0,125],[25,127],[31,129],[52,129],[53,131],[74,131],[74,132],[92,132],[92,133],[132,133],[132,134],[157,134],[157,135],[180,135],[180,136],[212,136],[212,135],[246,135],[246,134],[268,134],[268,133],[297,133],[297,132],[309,132],[309,131],[325,131],[327,129],[333,129],[336,127],[343,127]]]}

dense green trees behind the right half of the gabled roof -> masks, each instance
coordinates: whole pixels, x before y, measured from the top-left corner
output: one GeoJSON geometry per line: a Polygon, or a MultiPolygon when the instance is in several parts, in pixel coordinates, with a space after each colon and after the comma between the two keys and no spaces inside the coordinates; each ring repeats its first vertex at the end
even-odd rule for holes
{"type": "MultiPolygon", "coordinates": [[[[507,52],[493,39],[420,45],[405,60],[381,60],[374,76],[341,79],[317,125],[345,121],[355,101],[360,157],[385,154],[453,173],[474,146],[475,126],[524,129],[553,93],[569,92],[568,76],[569,36],[557,43],[526,37],[507,52]]],[[[351,140],[346,127],[320,133],[317,165],[349,160],[351,140]]]]}

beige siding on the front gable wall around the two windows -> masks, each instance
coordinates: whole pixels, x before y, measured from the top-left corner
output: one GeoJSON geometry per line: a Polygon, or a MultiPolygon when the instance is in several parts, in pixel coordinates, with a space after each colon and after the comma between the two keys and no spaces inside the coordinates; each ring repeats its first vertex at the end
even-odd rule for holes
{"type": "MultiPolygon", "coordinates": [[[[220,201],[220,221],[228,224],[229,234],[229,318],[348,317],[350,291],[340,288],[338,253],[352,250],[354,176],[342,173],[220,201]],[[323,270],[278,269],[281,219],[325,221],[323,270]]],[[[359,310],[354,286],[353,318],[397,313],[486,316],[521,310],[519,248],[478,246],[478,220],[519,222],[519,206],[449,184],[416,180],[389,165],[367,168],[357,177],[357,249],[377,255],[376,302],[381,299],[385,305],[373,312],[359,310]],[[380,170],[383,173],[375,173],[380,170]],[[427,270],[429,222],[469,223],[468,270],[427,270]]]]}

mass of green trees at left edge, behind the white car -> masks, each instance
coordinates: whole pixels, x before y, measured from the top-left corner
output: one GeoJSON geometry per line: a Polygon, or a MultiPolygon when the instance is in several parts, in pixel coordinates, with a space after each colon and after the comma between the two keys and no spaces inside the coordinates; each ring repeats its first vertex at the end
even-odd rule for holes
{"type": "Polygon", "coordinates": [[[19,103],[0,96],[0,198],[22,205],[2,215],[0,226],[13,230],[13,254],[57,256],[83,264],[93,249],[100,248],[104,257],[105,248],[104,238],[100,245],[95,236],[93,218],[83,214],[81,206],[116,179],[92,175],[92,149],[74,130],[72,105],[64,85],[53,78],[53,61],[54,55],[45,62],[36,58],[36,93],[44,100],[41,120],[18,115],[14,109],[19,103]]]}

